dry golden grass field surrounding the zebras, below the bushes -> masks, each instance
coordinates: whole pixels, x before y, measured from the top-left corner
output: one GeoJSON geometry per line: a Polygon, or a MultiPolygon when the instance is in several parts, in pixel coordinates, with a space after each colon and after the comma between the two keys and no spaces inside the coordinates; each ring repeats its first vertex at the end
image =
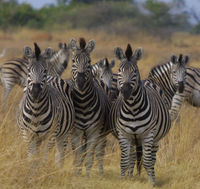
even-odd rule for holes
{"type": "MultiPolygon", "coordinates": [[[[95,50],[91,53],[92,63],[101,58],[114,59],[113,49],[120,46],[126,48],[130,43],[133,49],[143,48],[143,58],[138,62],[142,79],[148,76],[151,67],[170,59],[172,54],[183,53],[190,56],[190,65],[200,67],[200,36],[187,33],[176,33],[164,40],[164,37],[148,36],[141,33],[122,37],[103,32],[85,30],[70,30],[60,32],[44,32],[23,29],[13,33],[0,32],[0,51],[6,48],[6,55],[0,63],[11,57],[21,57],[23,47],[33,48],[33,42],[44,50],[46,47],[58,49],[58,42],[69,43],[71,37],[85,37],[86,41],[94,39],[95,50]]],[[[117,72],[119,62],[114,68],[117,72]]],[[[62,78],[70,78],[71,60],[62,78]]],[[[0,88],[2,94],[2,87],[0,88]]],[[[133,180],[120,180],[120,148],[118,141],[111,135],[106,147],[104,160],[105,173],[98,174],[95,161],[91,177],[85,177],[85,167],[82,175],[73,174],[73,153],[71,145],[65,158],[64,167],[56,168],[54,150],[50,153],[45,166],[32,163],[27,158],[24,143],[16,123],[16,108],[22,98],[23,90],[15,87],[8,98],[5,109],[0,110],[0,189],[8,188],[81,188],[81,189],[111,189],[111,188],[152,188],[147,174],[142,169],[140,176],[133,180]],[[30,171],[31,169],[31,171],[30,171]],[[31,176],[30,176],[31,175],[31,176]],[[30,178],[31,177],[31,178],[30,178]]],[[[200,188],[200,108],[187,103],[182,106],[180,121],[174,123],[168,135],[160,141],[155,166],[156,187],[163,189],[199,189],[200,188]]],[[[42,157],[42,156],[41,156],[42,157]]],[[[38,158],[41,158],[38,157],[38,158]]]]}

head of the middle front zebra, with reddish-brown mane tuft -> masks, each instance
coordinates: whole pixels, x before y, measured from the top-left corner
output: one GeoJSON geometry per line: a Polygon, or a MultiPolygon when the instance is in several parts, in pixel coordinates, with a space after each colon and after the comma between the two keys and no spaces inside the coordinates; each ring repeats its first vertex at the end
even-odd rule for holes
{"type": "Polygon", "coordinates": [[[79,46],[76,40],[71,39],[70,48],[72,49],[72,81],[75,87],[83,90],[88,81],[92,78],[90,53],[95,47],[95,42],[90,40],[86,47],[84,38],[80,38],[79,46]]]}

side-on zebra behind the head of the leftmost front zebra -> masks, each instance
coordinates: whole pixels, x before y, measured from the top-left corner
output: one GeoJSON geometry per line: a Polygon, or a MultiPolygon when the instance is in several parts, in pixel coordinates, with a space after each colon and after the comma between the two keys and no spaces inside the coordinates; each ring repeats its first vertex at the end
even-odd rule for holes
{"type": "MultiPolygon", "coordinates": [[[[68,64],[69,48],[65,43],[59,43],[59,48],[60,50],[53,52],[52,48],[49,47],[43,53],[43,57],[48,57],[45,60],[48,65],[48,73],[53,76],[61,75],[68,64]]],[[[0,66],[1,85],[3,86],[3,106],[15,85],[21,87],[26,85],[27,66],[28,60],[26,57],[12,58],[0,66]]]]}

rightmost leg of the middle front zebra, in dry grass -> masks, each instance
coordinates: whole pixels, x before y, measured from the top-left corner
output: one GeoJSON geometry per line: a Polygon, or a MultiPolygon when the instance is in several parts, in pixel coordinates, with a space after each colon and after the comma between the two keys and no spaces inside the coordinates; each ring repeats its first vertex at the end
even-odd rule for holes
{"type": "Polygon", "coordinates": [[[95,150],[96,150],[96,158],[99,162],[99,174],[103,175],[104,174],[104,169],[103,169],[103,158],[105,155],[105,147],[107,144],[107,138],[102,137],[100,141],[98,142],[95,150]]]}

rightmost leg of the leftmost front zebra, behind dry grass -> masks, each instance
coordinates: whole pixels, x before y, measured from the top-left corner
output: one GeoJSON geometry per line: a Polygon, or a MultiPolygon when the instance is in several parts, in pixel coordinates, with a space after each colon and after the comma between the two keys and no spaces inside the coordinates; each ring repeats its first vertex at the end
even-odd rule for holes
{"type": "Polygon", "coordinates": [[[62,138],[57,138],[55,160],[56,160],[56,165],[59,168],[61,168],[64,163],[64,157],[65,157],[65,151],[67,148],[67,143],[68,143],[68,136],[64,136],[62,138]]]}

